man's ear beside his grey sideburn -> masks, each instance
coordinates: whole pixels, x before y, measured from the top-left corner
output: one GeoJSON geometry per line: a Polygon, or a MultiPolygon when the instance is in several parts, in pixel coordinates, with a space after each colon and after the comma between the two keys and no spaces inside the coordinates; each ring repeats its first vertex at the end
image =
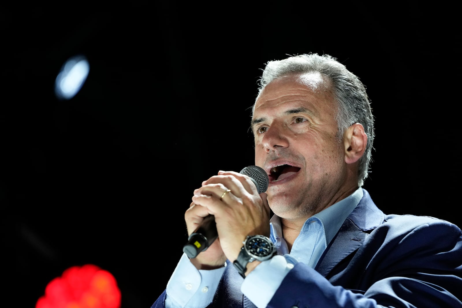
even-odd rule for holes
{"type": "Polygon", "coordinates": [[[343,133],[343,144],[345,145],[345,163],[355,163],[361,158],[366,150],[367,135],[364,127],[354,123],[343,133]]]}

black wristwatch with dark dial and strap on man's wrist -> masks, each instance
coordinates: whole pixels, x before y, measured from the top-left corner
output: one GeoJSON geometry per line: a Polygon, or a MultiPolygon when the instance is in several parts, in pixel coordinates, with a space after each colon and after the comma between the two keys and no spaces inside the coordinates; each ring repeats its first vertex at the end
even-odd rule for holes
{"type": "Polygon", "coordinates": [[[233,262],[242,278],[245,278],[247,263],[255,260],[269,260],[277,254],[277,249],[273,242],[266,236],[247,236],[243,244],[244,246],[241,248],[237,259],[233,262]]]}

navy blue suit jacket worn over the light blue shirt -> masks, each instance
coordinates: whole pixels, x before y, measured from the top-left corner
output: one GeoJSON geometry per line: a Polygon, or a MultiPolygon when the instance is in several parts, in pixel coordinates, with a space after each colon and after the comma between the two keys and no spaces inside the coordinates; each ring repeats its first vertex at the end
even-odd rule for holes
{"type": "MultiPolygon", "coordinates": [[[[268,307],[461,307],[462,231],[426,216],[385,215],[363,189],[315,269],[298,263],[268,307]]],[[[227,261],[209,307],[255,307],[227,261]]],[[[152,308],[164,307],[165,290],[152,308]]]]}

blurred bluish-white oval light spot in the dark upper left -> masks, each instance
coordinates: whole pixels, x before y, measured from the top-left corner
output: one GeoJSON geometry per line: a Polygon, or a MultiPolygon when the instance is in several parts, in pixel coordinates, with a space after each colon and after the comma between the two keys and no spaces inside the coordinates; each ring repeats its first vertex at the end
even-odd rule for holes
{"type": "Polygon", "coordinates": [[[90,72],[85,56],[75,56],[66,61],[55,80],[55,94],[60,99],[73,98],[82,88],[90,72]]]}

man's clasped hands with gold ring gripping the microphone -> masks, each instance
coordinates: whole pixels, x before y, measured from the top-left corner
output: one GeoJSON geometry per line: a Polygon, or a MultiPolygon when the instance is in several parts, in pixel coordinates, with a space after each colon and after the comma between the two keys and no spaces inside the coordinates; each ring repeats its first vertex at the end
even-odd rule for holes
{"type": "Polygon", "coordinates": [[[219,171],[218,175],[203,181],[202,186],[195,189],[192,202],[185,212],[188,235],[209,214],[215,216],[218,238],[207,250],[191,259],[197,269],[223,266],[226,259],[233,262],[248,235],[269,236],[267,194],[259,194],[247,175],[219,171]]]}

